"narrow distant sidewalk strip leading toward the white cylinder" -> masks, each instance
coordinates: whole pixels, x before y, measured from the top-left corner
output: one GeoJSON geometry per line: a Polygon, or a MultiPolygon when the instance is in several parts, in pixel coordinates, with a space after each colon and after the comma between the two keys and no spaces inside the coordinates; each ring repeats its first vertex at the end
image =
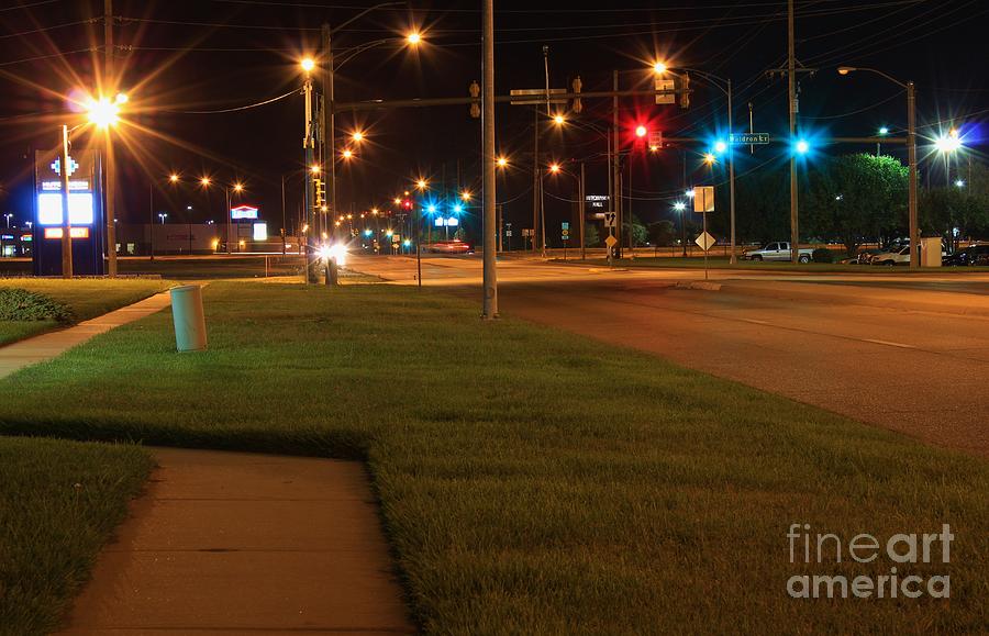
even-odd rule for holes
{"type": "Polygon", "coordinates": [[[101,316],[82,321],[75,326],[48,332],[0,347],[0,378],[4,378],[29,365],[54,358],[98,334],[149,316],[170,304],[171,297],[169,292],[165,291],[101,316]]]}

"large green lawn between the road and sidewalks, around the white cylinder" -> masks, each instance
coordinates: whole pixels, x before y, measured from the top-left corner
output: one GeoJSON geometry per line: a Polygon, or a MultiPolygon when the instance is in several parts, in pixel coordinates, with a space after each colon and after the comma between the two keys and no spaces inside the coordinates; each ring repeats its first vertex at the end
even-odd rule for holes
{"type": "Polygon", "coordinates": [[[209,352],[174,354],[167,313],[114,330],[0,382],[0,433],[366,459],[430,633],[989,629],[985,460],[429,291],[204,295],[209,352]],[[956,538],[805,566],[794,523],[956,538]],[[891,566],[951,600],[787,594],[891,566]]]}

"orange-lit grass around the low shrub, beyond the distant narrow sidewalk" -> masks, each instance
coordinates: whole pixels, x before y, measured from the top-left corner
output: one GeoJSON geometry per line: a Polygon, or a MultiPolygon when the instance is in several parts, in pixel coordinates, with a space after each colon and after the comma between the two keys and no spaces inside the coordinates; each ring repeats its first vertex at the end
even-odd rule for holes
{"type": "MultiPolygon", "coordinates": [[[[79,321],[137,302],[171,287],[153,279],[0,278],[0,286],[41,293],[67,305],[79,321]]],[[[0,345],[59,326],[55,321],[0,321],[0,345]]]]}

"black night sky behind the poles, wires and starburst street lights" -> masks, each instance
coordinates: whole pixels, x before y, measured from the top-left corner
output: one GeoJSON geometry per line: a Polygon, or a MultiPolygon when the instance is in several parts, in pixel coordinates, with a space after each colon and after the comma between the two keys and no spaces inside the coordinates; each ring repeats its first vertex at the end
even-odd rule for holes
{"type": "MultiPolygon", "coordinates": [[[[63,122],[82,115],[67,109],[74,89],[95,90],[95,68],[102,64],[102,1],[4,0],[0,8],[0,207],[23,219],[31,205],[29,155],[54,146],[63,122]],[[88,51],[93,49],[95,51],[88,51]],[[34,58],[34,59],[32,59],[34,58]]],[[[195,180],[216,183],[243,180],[243,202],[258,204],[271,226],[280,225],[281,179],[287,175],[289,228],[298,215],[302,167],[302,98],[292,94],[268,105],[231,113],[196,114],[271,99],[301,86],[298,59],[318,53],[323,22],[340,24],[368,4],[320,1],[116,0],[115,64],[120,88],[130,96],[120,129],[120,199],[118,217],[143,222],[151,212],[169,220],[222,219],[223,190],[209,200],[195,180]],[[186,182],[167,183],[171,171],[186,182]],[[148,190],[155,190],[149,210],[148,190]],[[188,212],[187,205],[193,210],[188,212]]],[[[541,88],[543,45],[549,47],[554,88],[568,88],[579,75],[584,90],[605,89],[612,69],[623,88],[647,88],[649,64],[691,67],[732,78],[735,129],[748,127],[748,103],[755,129],[782,138],[787,130],[786,81],[766,70],[785,66],[786,2],[726,0],[688,2],[609,2],[598,9],[567,9],[567,3],[496,2],[496,91],[541,88]],[[540,8],[534,8],[538,5],[540,8]],[[548,8],[556,7],[556,8],[548,8]]],[[[984,69],[989,4],[982,0],[876,1],[798,0],[797,56],[813,75],[800,78],[800,127],[809,138],[871,135],[880,125],[902,134],[902,90],[881,78],[857,74],[840,77],[847,64],[881,69],[918,85],[921,132],[935,135],[960,125],[966,144],[981,144],[989,82],[984,69]]],[[[341,102],[369,99],[466,97],[480,80],[480,5],[465,2],[414,2],[384,8],[334,34],[338,59],[347,49],[412,29],[425,44],[418,51],[386,44],[362,53],[336,76],[341,102]]],[[[649,98],[621,104],[623,135],[647,123],[668,136],[713,140],[724,132],[723,94],[700,78],[691,82],[691,108],[655,105],[649,98]]],[[[78,94],[78,93],[77,93],[78,94]]],[[[610,100],[585,100],[582,122],[607,124],[610,100]]],[[[531,225],[533,107],[499,105],[498,146],[511,161],[499,180],[498,199],[505,221],[531,225]]],[[[604,193],[607,172],[596,134],[567,126],[553,130],[543,115],[547,159],[588,160],[588,193],[604,193]]],[[[343,212],[370,205],[389,207],[411,180],[427,177],[442,198],[459,185],[479,191],[480,120],[467,105],[373,110],[337,118],[337,135],[355,127],[368,141],[349,164],[341,164],[337,198],[343,212]]],[[[88,134],[77,140],[85,144],[88,134]]],[[[689,181],[702,180],[697,166],[701,145],[686,148],[689,181]]],[[[827,147],[823,153],[864,147],[827,147]]],[[[788,147],[771,145],[749,155],[738,153],[737,171],[781,169],[788,147]]],[[[893,153],[898,150],[892,150],[893,153]]],[[[634,212],[649,222],[669,213],[681,191],[680,149],[632,155],[634,212]]],[[[567,213],[574,182],[547,178],[551,221],[567,213]]],[[[476,237],[477,210],[467,226],[476,237]]],[[[556,233],[552,233],[555,235],[556,233]]],[[[518,234],[516,234],[518,236],[518,234]]]]}

